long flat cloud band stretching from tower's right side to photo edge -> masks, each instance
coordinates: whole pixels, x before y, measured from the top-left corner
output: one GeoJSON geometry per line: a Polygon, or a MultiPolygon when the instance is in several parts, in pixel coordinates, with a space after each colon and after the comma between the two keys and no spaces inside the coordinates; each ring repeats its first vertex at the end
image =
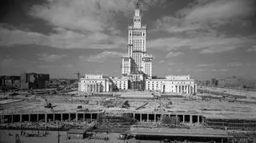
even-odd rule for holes
{"type": "Polygon", "coordinates": [[[189,48],[202,50],[201,54],[213,54],[234,50],[238,47],[255,45],[255,36],[251,37],[199,37],[199,38],[157,38],[147,43],[148,48],[157,50],[178,50],[189,48]]]}

